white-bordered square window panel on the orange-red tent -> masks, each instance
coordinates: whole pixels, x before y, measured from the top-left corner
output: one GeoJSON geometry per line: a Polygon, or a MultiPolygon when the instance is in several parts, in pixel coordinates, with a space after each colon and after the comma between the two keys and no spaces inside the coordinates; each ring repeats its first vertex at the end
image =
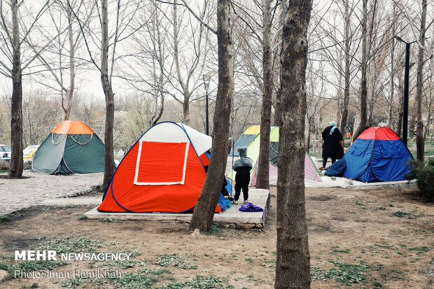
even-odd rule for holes
{"type": "Polygon", "coordinates": [[[137,155],[134,184],[183,184],[189,143],[141,141],[137,155]]]}

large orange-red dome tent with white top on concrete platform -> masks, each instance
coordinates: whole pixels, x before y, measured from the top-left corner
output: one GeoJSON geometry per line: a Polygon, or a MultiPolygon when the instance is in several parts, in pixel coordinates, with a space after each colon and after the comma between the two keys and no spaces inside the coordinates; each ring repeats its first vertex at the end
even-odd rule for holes
{"type": "MultiPolygon", "coordinates": [[[[199,198],[211,136],[160,122],[132,146],[116,169],[98,211],[181,213],[199,198]]],[[[216,212],[221,212],[218,205],[216,212]]]]}

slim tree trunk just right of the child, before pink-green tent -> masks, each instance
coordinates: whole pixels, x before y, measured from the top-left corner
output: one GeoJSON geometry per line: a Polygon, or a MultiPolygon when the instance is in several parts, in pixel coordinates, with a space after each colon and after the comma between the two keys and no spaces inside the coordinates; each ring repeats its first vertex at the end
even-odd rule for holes
{"type": "Polygon", "coordinates": [[[260,148],[258,157],[258,177],[256,188],[269,188],[269,127],[271,125],[271,105],[273,93],[273,73],[271,54],[271,3],[262,0],[262,113],[260,116],[260,148]]]}

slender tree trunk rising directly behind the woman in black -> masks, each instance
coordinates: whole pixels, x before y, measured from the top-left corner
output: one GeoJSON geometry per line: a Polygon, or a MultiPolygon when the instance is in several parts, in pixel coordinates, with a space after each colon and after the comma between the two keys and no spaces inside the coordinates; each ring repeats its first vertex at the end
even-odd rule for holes
{"type": "Polygon", "coordinates": [[[345,5],[345,86],[344,86],[344,99],[342,101],[342,116],[340,123],[340,131],[343,136],[345,136],[346,132],[346,119],[348,118],[348,102],[349,102],[349,80],[350,80],[350,36],[349,36],[349,3],[348,0],[344,1],[345,5]]]}

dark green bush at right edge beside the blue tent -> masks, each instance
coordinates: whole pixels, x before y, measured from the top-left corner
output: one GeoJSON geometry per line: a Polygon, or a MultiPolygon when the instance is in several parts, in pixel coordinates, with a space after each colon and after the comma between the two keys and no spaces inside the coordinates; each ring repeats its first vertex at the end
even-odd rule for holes
{"type": "Polygon", "coordinates": [[[422,195],[434,200],[434,159],[430,158],[428,162],[414,160],[409,167],[411,174],[406,176],[407,179],[416,178],[417,188],[422,195]]]}

